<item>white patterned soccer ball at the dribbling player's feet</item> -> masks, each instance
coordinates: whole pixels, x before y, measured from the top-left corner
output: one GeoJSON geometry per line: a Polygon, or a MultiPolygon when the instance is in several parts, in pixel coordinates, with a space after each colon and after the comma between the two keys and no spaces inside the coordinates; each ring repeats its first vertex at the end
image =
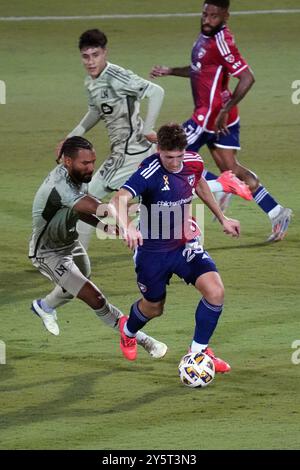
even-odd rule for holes
{"type": "Polygon", "coordinates": [[[187,387],[206,387],[215,377],[215,366],[204,352],[188,353],[181,359],[178,372],[187,387]]]}

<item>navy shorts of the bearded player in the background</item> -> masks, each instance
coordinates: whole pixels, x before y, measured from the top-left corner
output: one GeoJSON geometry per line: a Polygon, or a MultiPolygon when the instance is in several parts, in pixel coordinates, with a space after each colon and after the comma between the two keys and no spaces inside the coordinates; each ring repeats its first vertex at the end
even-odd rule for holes
{"type": "Polygon", "coordinates": [[[214,134],[202,131],[202,128],[197,125],[193,119],[182,124],[185,130],[188,146],[187,150],[198,152],[198,150],[207,145],[209,148],[219,147],[240,150],[240,123],[237,122],[233,126],[228,127],[229,135],[214,134]]]}

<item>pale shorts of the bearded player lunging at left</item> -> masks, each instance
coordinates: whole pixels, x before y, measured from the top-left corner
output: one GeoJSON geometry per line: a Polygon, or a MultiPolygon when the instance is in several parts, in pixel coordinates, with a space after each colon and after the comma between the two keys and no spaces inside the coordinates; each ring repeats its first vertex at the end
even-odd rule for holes
{"type": "Polygon", "coordinates": [[[77,297],[91,275],[87,252],[79,241],[59,251],[38,253],[33,265],[55,284],[77,297]]]}

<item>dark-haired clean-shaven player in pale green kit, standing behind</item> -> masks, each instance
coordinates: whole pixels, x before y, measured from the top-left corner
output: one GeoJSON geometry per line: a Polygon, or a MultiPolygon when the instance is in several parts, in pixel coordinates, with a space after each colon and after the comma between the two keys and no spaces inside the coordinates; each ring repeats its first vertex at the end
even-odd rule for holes
{"type": "MultiPolygon", "coordinates": [[[[164,90],[130,70],[107,61],[107,37],[98,29],[85,31],[79,39],[82,63],[88,73],[85,88],[88,112],[68,137],[83,136],[99,121],[104,121],[110,139],[110,156],[102,163],[89,184],[89,193],[102,199],[118,190],[155,151],[155,121],[164,90]],[[140,101],[148,99],[145,121],[140,116],[140,101]]],[[[58,145],[59,154],[62,142],[58,145]]],[[[79,238],[88,247],[93,228],[79,222],[79,238]]]]}

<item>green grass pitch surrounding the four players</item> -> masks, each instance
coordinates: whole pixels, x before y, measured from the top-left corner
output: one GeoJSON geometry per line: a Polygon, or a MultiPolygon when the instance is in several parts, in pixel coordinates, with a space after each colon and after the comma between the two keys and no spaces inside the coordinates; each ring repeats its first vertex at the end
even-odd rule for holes
{"type": "MultiPolygon", "coordinates": [[[[196,12],[192,0],[1,2],[1,16],[196,12]],[[4,4],[5,3],[5,4],[4,4]],[[186,5],[188,4],[188,5],[186,5]]],[[[297,8],[297,0],[232,1],[232,10],[297,8]]],[[[240,160],[294,211],[287,238],[266,245],[270,223],[254,203],[235,199],[230,215],[242,225],[226,238],[206,213],[206,248],[226,287],[212,347],[232,365],[203,390],[189,390],[177,364],[191,341],[199,296],[173,279],[163,317],[147,326],[167,356],[123,360],[118,336],[89,308],[61,308],[61,335],[52,337],[29,311],[51,284],[27,259],[31,205],[54,166],[54,148],[86,110],[82,31],[102,28],[111,62],[147,77],[154,64],[187,65],[199,18],[0,22],[0,364],[1,449],[299,449],[300,364],[291,356],[299,330],[300,14],[232,16],[237,43],[256,76],[240,106],[240,160]]],[[[190,116],[189,83],[159,80],[166,91],[159,124],[190,116]]],[[[143,106],[143,109],[145,107],[143,106]]],[[[104,126],[88,135],[99,163],[108,155],[104,126]]],[[[207,167],[214,169],[206,150],[207,167]]],[[[130,252],[120,241],[93,239],[94,282],[125,312],[138,297],[130,252]]]]}

